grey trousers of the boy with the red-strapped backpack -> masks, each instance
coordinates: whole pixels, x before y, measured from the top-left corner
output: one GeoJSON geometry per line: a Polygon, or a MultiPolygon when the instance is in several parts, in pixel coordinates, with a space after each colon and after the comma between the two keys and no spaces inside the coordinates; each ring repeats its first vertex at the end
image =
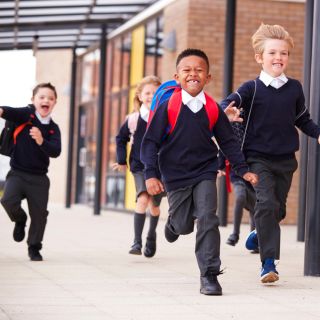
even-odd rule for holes
{"type": "Polygon", "coordinates": [[[208,270],[220,271],[220,232],[216,179],[167,193],[169,217],[167,227],[176,234],[188,234],[197,220],[195,254],[201,276],[208,270]]]}

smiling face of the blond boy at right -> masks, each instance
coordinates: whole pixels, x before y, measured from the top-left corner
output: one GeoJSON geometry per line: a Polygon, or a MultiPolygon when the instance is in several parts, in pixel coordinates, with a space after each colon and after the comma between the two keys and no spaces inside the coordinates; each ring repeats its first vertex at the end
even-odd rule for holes
{"type": "Polygon", "coordinates": [[[287,68],[289,61],[289,45],[285,40],[268,39],[262,54],[255,55],[263,71],[270,76],[279,77],[287,68]]]}

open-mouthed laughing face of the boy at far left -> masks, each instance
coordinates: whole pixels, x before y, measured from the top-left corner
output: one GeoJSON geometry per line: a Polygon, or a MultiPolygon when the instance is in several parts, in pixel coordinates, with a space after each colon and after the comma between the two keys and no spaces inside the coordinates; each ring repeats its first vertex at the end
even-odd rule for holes
{"type": "Polygon", "coordinates": [[[36,110],[42,118],[47,117],[53,110],[57,99],[54,91],[50,88],[39,88],[31,99],[36,110]]]}

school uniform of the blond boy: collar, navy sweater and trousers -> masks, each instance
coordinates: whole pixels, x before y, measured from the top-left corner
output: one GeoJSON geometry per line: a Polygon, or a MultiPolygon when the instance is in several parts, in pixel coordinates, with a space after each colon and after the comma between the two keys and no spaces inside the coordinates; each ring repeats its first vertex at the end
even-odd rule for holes
{"type": "MultiPolygon", "coordinates": [[[[310,119],[299,81],[284,74],[274,79],[264,71],[255,81],[256,94],[243,152],[250,171],[259,176],[254,186],[255,224],[261,261],[265,261],[280,258],[279,222],[285,218],[286,200],[298,166],[296,127],[313,138],[319,137],[320,128],[310,119]]],[[[222,108],[235,101],[248,117],[253,91],[253,81],[243,83],[237,92],[221,102],[222,108]]]]}

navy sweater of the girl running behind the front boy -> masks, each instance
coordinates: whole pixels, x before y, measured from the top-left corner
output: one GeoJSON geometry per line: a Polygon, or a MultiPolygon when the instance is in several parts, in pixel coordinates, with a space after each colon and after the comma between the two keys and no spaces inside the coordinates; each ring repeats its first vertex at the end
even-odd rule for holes
{"type": "MultiPolygon", "coordinates": [[[[140,161],[140,148],[146,128],[147,123],[139,115],[137,129],[133,134],[133,144],[129,155],[130,171],[133,173],[141,172],[144,169],[144,166],[140,161]]],[[[127,163],[127,143],[130,141],[130,135],[131,133],[128,127],[128,120],[126,120],[116,136],[117,162],[122,165],[127,163]]]]}

